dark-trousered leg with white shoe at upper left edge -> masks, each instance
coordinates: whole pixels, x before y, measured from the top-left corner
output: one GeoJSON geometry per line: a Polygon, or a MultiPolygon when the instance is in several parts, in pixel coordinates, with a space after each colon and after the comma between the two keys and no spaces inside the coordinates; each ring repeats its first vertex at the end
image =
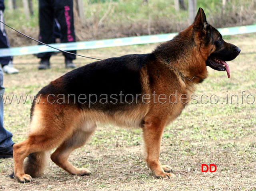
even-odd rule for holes
{"type": "MultiPolygon", "coordinates": [[[[4,22],[4,10],[0,10],[0,21],[4,22]]],[[[9,48],[9,41],[5,32],[4,24],[0,23],[0,48],[9,48]]],[[[13,67],[12,57],[0,57],[0,63],[3,71],[8,74],[18,73],[19,71],[13,67]]]]}

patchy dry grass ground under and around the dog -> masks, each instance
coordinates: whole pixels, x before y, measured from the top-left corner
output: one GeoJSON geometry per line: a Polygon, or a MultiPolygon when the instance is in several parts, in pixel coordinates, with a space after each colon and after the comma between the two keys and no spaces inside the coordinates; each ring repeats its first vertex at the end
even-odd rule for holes
{"type": "MultiPolygon", "coordinates": [[[[172,167],[174,179],[157,179],[146,166],[142,156],[140,129],[124,129],[110,124],[99,124],[90,141],[70,156],[72,164],[86,167],[91,176],[69,175],[52,161],[42,177],[32,183],[21,184],[10,179],[13,159],[0,159],[0,190],[256,190],[256,102],[246,103],[249,94],[256,97],[256,34],[226,37],[242,49],[230,61],[231,78],[226,72],[208,68],[209,77],[198,85],[198,96],[215,94],[217,104],[190,104],[164,131],[160,161],[172,167]],[[243,104],[239,96],[245,91],[243,104]],[[239,97],[239,104],[230,95],[239,97]],[[228,104],[226,104],[228,95],[228,104]],[[214,173],[202,173],[201,164],[215,164],[214,173]]],[[[156,44],[113,47],[78,51],[82,55],[101,59],[129,53],[148,53],[156,44]]],[[[39,60],[32,56],[14,58],[17,75],[4,75],[6,94],[36,94],[51,80],[63,75],[64,58],[53,56],[52,69],[38,71],[39,60]]],[[[78,57],[76,65],[92,60],[78,57]]],[[[204,98],[205,102],[209,99],[204,98]]],[[[252,96],[248,97],[252,102],[252,96]]],[[[29,124],[30,101],[25,104],[4,105],[4,126],[13,133],[14,142],[26,138],[29,124]]]]}

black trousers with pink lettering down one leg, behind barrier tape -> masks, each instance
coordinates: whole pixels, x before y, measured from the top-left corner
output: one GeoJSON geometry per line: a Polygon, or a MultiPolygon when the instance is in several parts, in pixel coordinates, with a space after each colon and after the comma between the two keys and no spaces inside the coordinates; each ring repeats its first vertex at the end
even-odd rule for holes
{"type": "MultiPolygon", "coordinates": [[[[54,19],[60,24],[60,41],[75,42],[73,0],[39,0],[39,40],[55,43],[54,19]]],[[[76,53],[76,51],[70,51],[76,53]]],[[[66,59],[76,59],[76,55],[63,53],[66,59]]],[[[39,53],[38,58],[50,59],[52,52],[39,53]]]]}

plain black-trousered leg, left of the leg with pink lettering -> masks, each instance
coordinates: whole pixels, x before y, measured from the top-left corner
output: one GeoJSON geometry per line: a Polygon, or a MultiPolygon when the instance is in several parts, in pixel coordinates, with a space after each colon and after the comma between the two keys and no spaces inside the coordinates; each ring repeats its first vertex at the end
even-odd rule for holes
{"type": "MultiPolygon", "coordinates": [[[[39,40],[43,43],[55,43],[53,37],[54,9],[51,0],[39,0],[39,40]]],[[[50,68],[52,52],[38,53],[41,59],[38,69],[50,68]]]]}

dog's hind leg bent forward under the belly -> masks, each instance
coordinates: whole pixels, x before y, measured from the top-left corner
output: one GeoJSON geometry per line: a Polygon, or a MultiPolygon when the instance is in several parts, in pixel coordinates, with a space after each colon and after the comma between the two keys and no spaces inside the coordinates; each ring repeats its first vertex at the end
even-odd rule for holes
{"type": "Polygon", "coordinates": [[[51,155],[52,161],[70,174],[81,176],[90,175],[91,172],[88,169],[77,168],[70,164],[68,156],[73,150],[83,146],[95,129],[96,124],[90,124],[90,127],[78,129],[73,133],[72,137],[65,140],[51,155]]]}

